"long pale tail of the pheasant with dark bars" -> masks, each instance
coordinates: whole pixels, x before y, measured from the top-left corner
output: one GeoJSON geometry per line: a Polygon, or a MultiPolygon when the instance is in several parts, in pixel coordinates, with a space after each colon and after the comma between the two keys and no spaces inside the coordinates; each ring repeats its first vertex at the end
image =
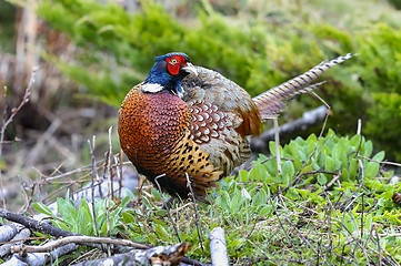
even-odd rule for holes
{"type": "Polygon", "coordinates": [[[312,91],[324,82],[308,85],[309,83],[314,81],[319,75],[321,75],[332,66],[340,64],[354,55],[354,53],[348,53],[343,57],[339,57],[330,61],[323,61],[313,69],[307,71],[305,73],[300,74],[253,98],[252,100],[258,106],[262,121],[277,117],[278,114],[285,106],[284,100],[289,100],[295,95],[312,91]]]}

